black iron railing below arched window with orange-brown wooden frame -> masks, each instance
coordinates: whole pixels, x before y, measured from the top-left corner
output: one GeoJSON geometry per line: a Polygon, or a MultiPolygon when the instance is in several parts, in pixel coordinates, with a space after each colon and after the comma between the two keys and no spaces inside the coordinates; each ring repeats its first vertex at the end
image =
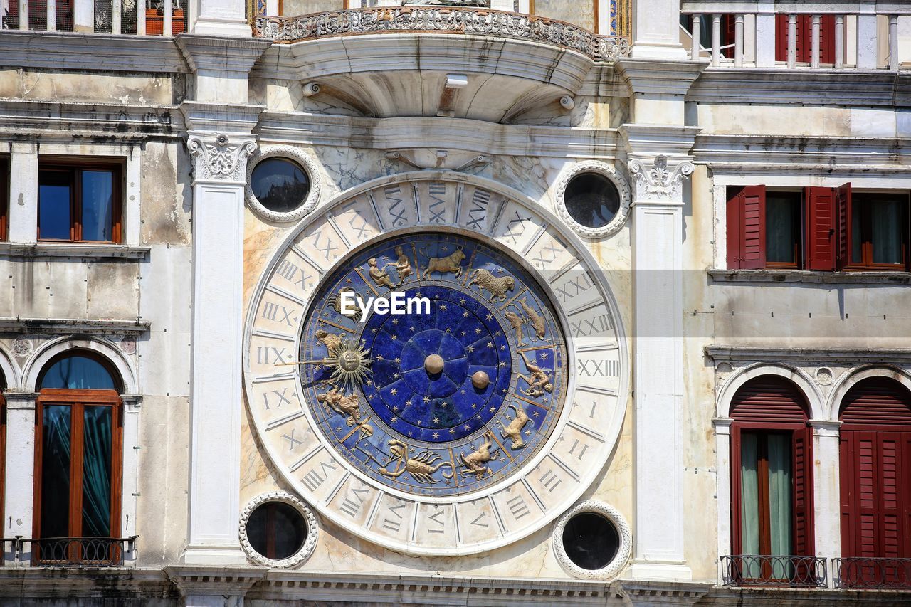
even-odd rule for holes
{"type": "Polygon", "coordinates": [[[3,543],[4,552],[12,553],[17,562],[42,567],[120,567],[125,559],[136,559],[138,537],[28,539],[16,536],[4,538],[3,543]]]}

